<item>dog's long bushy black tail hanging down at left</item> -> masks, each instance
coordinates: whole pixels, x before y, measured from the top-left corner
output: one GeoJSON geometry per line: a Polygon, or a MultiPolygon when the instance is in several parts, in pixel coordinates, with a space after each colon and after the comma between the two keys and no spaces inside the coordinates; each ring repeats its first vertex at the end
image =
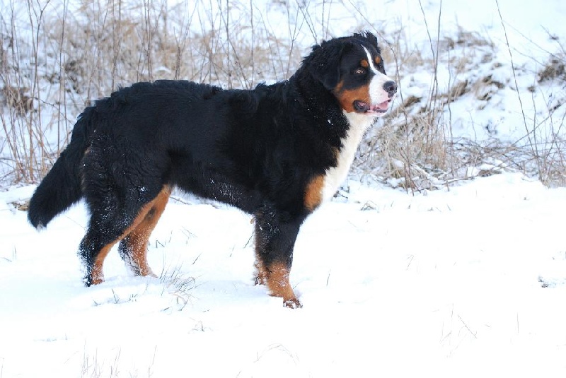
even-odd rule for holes
{"type": "Polygon", "coordinates": [[[96,108],[87,107],[73,128],[69,146],[59,155],[30,200],[28,220],[35,228],[45,227],[55,215],[82,198],[81,164],[95,128],[96,108]]]}

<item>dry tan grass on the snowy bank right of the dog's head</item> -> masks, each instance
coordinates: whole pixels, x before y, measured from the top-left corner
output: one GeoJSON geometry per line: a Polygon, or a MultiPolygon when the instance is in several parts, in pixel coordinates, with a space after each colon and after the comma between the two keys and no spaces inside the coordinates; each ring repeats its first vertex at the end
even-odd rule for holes
{"type": "MultiPolygon", "coordinates": [[[[497,72],[509,68],[495,60],[498,47],[483,35],[466,30],[459,30],[455,37],[429,35],[430,54],[408,49],[406,42],[410,38],[402,29],[390,37],[390,59],[396,63],[398,81],[422,71],[432,73],[432,78],[428,93],[421,91],[420,95],[405,96],[405,88],[400,85],[397,107],[383,120],[381,128],[370,131],[359,150],[356,162],[359,172],[371,172],[384,182],[408,191],[446,187],[461,179],[502,170],[524,172],[548,186],[566,184],[566,114],[562,107],[566,92],[548,100],[548,117],[525,115],[523,139],[504,143],[495,137],[481,142],[456,138],[452,134],[456,114],[451,106],[460,98],[473,98],[481,111],[500,90],[514,88],[519,97],[519,85],[499,81],[497,72]],[[478,70],[480,66],[490,66],[490,70],[478,70]],[[449,71],[448,85],[439,85],[439,69],[449,71]],[[474,70],[483,76],[470,75],[474,70]],[[545,135],[541,135],[543,131],[545,135]]],[[[566,89],[561,59],[564,49],[559,46],[559,50],[533,81],[558,82],[566,89]]]]}

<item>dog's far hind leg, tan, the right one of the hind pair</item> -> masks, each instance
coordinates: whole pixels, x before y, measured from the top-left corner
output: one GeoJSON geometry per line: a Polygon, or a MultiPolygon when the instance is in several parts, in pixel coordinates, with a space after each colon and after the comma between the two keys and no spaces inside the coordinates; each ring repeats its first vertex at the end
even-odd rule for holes
{"type": "Polygon", "coordinates": [[[148,210],[144,218],[120,242],[118,247],[120,256],[136,276],[154,276],[147,264],[147,244],[149,235],[163,214],[170,195],[171,188],[163,187],[156,198],[145,206],[148,210]]]}

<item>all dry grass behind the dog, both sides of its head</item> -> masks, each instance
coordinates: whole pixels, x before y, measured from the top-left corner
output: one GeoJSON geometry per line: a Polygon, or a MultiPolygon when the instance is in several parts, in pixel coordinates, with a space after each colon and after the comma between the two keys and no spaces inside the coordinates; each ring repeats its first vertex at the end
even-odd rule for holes
{"type": "MultiPolygon", "coordinates": [[[[81,0],[74,8],[68,0],[28,0],[23,7],[15,0],[8,3],[0,16],[0,186],[39,181],[66,146],[76,115],[119,86],[182,78],[253,88],[263,80],[288,78],[305,45],[330,37],[333,5],[328,0],[272,0],[271,6],[287,14],[287,35],[282,36],[248,0],[187,0],[175,7],[166,0],[81,0]]],[[[364,9],[349,3],[357,27],[384,41],[391,76],[401,82],[422,70],[433,73],[429,88],[419,95],[405,95],[400,85],[393,114],[372,129],[359,150],[359,172],[408,190],[432,189],[465,179],[472,164],[500,161],[546,184],[566,184],[564,122],[558,116],[566,96],[549,102],[546,119],[526,121],[528,143],[486,141],[480,146],[456,139],[452,107],[458,99],[473,96],[481,110],[497,91],[509,88],[494,75],[469,76],[479,64],[500,69],[494,60],[498,47],[485,35],[459,30],[429,35],[429,47],[419,51],[402,27],[383,35],[372,30],[364,9]],[[449,71],[449,85],[439,85],[441,69],[449,71]],[[549,135],[531,138],[548,122],[555,125],[549,135]]],[[[431,28],[439,26],[439,18],[427,20],[423,11],[431,28]]],[[[562,48],[533,81],[563,82],[566,88],[563,62],[562,48]]]]}

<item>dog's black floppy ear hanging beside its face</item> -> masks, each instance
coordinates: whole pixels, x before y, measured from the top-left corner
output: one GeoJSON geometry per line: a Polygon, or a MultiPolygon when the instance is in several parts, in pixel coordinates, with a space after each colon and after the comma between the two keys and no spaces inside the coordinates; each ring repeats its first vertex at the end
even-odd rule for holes
{"type": "Polygon", "coordinates": [[[332,42],[322,42],[313,47],[304,62],[308,61],[308,70],[313,78],[320,81],[324,88],[333,90],[340,81],[340,59],[345,45],[332,42]]]}

